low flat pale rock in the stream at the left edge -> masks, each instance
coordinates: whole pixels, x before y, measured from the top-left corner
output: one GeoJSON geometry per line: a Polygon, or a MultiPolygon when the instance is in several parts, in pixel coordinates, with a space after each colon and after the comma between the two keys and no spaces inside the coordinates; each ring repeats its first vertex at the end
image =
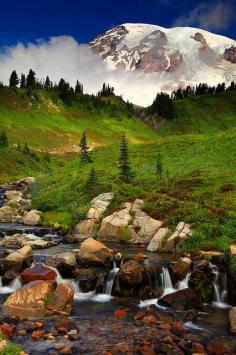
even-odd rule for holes
{"type": "Polygon", "coordinates": [[[33,249],[45,249],[55,246],[57,243],[45,241],[35,235],[14,234],[9,239],[1,241],[0,245],[8,249],[18,249],[24,246],[30,246],[33,249]]]}

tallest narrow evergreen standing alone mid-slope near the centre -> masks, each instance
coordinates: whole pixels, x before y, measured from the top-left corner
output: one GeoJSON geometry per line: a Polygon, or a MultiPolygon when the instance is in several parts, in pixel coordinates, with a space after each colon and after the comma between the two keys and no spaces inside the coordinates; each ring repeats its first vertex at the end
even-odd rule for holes
{"type": "Polygon", "coordinates": [[[120,142],[119,168],[121,180],[126,183],[130,182],[133,174],[130,169],[128,141],[125,135],[122,136],[120,142]]]}

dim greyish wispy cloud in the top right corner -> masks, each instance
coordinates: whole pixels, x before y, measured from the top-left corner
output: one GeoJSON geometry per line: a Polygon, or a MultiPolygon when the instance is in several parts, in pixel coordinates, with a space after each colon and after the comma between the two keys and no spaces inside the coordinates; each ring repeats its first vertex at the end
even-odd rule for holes
{"type": "Polygon", "coordinates": [[[234,9],[228,1],[200,2],[188,14],[180,16],[175,26],[196,26],[207,30],[225,30],[234,17],[234,9]]]}

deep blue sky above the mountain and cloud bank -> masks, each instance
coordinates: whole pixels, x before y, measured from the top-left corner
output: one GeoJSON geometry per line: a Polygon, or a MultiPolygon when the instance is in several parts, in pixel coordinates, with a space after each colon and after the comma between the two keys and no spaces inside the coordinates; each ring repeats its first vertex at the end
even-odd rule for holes
{"type": "Polygon", "coordinates": [[[0,0],[0,46],[71,35],[87,43],[124,22],[201,27],[236,38],[236,0],[0,0]]]}

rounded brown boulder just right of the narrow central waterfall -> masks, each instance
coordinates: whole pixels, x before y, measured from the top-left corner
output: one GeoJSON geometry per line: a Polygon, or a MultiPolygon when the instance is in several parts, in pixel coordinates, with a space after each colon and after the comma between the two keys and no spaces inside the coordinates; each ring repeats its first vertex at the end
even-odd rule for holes
{"type": "Polygon", "coordinates": [[[143,280],[143,268],[134,260],[129,260],[122,265],[117,277],[122,284],[137,285],[143,280]]]}

